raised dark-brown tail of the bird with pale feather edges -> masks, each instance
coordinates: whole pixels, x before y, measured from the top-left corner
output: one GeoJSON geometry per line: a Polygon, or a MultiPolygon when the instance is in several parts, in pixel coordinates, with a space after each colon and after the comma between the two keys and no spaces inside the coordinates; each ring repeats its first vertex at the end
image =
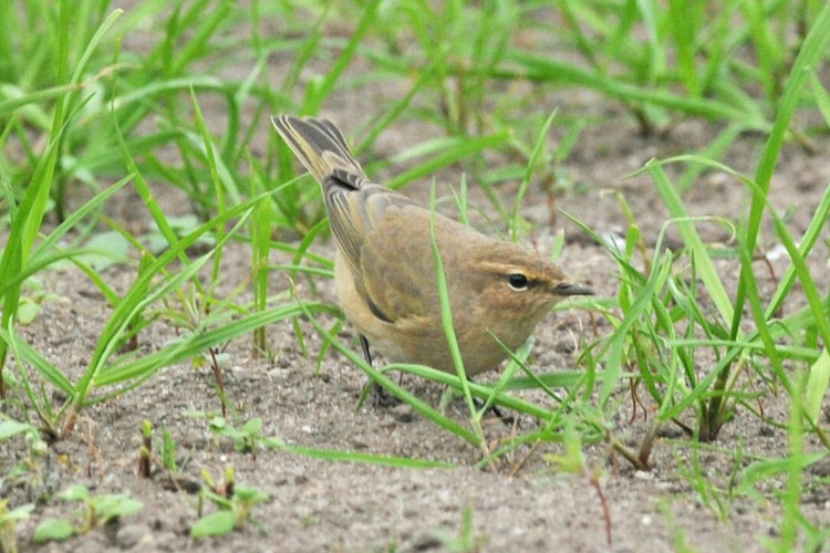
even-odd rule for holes
{"type": "Polygon", "coordinates": [[[331,177],[340,186],[360,189],[367,181],[363,168],[352,155],[343,134],[328,119],[314,117],[271,117],[277,132],[300,158],[302,165],[324,188],[331,177]]]}

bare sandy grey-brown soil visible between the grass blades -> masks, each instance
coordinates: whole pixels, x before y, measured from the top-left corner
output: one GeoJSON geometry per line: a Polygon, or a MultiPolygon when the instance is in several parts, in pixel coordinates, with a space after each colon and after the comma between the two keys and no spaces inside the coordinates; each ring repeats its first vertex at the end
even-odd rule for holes
{"type": "MultiPolygon", "coordinates": [[[[274,63],[281,63],[276,60],[274,63]]],[[[359,63],[357,70],[359,67],[359,63]]],[[[272,71],[277,74],[278,71],[272,71]]],[[[339,93],[326,104],[323,115],[336,121],[346,132],[356,128],[373,113],[377,102],[395,97],[395,85],[377,86],[359,97],[339,93]]],[[[429,102],[429,97],[419,98],[429,102]]],[[[209,102],[207,102],[209,103],[209,102]]],[[[682,122],[671,131],[642,137],[635,122],[615,103],[600,96],[560,91],[544,97],[540,113],[559,106],[562,116],[595,117],[580,137],[561,174],[574,187],[561,192],[558,206],[575,215],[601,233],[624,231],[625,219],[613,195],[621,190],[632,206],[646,241],[654,243],[666,220],[662,200],[647,177],[623,180],[652,157],[694,152],[708,144],[719,127],[699,121],[682,122]]],[[[221,113],[203,106],[209,121],[221,113]]],[[[220,108],[217,106],[217,108],[220,108]]],[[[401,119],[380,137],[377,157],[393,155],[403,145],[413,144],[438,132],[415,121],[401,119]]],[[[559,138],[551,136],[551,144],[559,138]]],[[[264,140],[263,137],[260,137],[264,140]]],[[[264,142],[260,142],[264,144],[264,142]]],[[[724,160],[739,170],[753,171],[762,148],[762,139],[745,136],[733,146],[724,160]]],[[[830,180],[827,150],[809,154],[785,148],[770,198],[779,209],[790,209],[790,227],[805,230],[824,187],[830,180]],[[793,202],[793,198],[798,198],[793,202]]],[[[488,163],[504,161],[494,157],[488,163]]],[[[387,169],[373,175],[383,180],[403,170],[387,169]]],[[[447,184],[458,182],[463,166],[437,175],[440,191],[447,184]]],[[[674,171],[674,169],[672,169],[674,171]]],[[[471,182],[475,189],[475,182],[471,182]]],[[[500,189],[511,197],[517,184],[500,189]]],[[[428,182],[404,190],[423,199],[428,182]]],[[[166,213],[186,211],[169,187],[156,186],[166,213]]],[[[474,198],[486,210],[479,194],[474,198]]],[[[539,251],[548,251],[557,228],[549,226],[548,198],[539,186],[532,186],[522,213],[537,223],[528,241],[539,251]]],[[[129,191],[120,192],[108,207],[113,215],[134,210],[138,205],[129,191]]],[[[734,179],[705,174],[687,196],[687,208],[694,215],[723,215],[738,218],[747,209],[747,194],[734,179]]],[[[148,218],[147,218],[148,219],[148,218]]],[[[147,219],[135,221],[147,226],[147,219]]],[[[480,223],[480,221],[477,221],[480,223]]],[[[613,260],[598,244],[582,236],[578,228],[559,216],[557,225],[566,228],[567,244],[561,264],[583,282],[592,284],[601,295],[616,292],[613,260]]],[[[715,225],[702,226],[705,240],[725,242],[728,232],[715,225]]],[[[671,236],[671,233],[670,233],[671,236]]],[[[775,234],[767,232],[765,251],[776,247],[775,234]]],[[[331,255],[332,244],[321,243],[314,251],[331,255]]],[[[249,251],[243,246],[228,248],[224,269],[224,288],[232,289],[250,271],[249,251]]],[[[816,260],[826,260],[826,246],[818,247],[816,260]]],[[[273,253],[274,261],[280,260],[273,253]]],[[[816,275],[827,290],[827,265],[818,263],[816,275]]],[[[777,274],[786,268],[786,259],[776,258],[777,274]]],[[[718,261],[718,270],[734,291],[739,265],[718,261]]],[[[761,293],[767,298],[775,289],[762,263],[756,265],[761,278],[761,293]]],[[[111,282],[124,289],[134,272],[123,267],[106,271],[111,282]]],[[[44,304],[43,312],[29,326],[20,327],[21,336],[53,363],[74,376],[79,375],[91,355],[102,325],[108,316],[106,301],[80,272],[61,269],[44,274],[50,292],[58,300],[44,304]]],[[[319,279],[321,294],[333,300],[331,283],[319,279]]],[[[286,288],[280,274],[271,276],[271,292],[286,288]]],[[[302,293],[310,298],[308,286],[302,293]]],[[[798,294],[795,294],[798,295],[798,294]]],[[[796,306],[788,304],[787,310],[796,306]]],[[[585,313],[571,311],[550,315],[537,332],[535,365],[542,371],[572,368],[578,357],[579,340],[588,332],[585,313]]],[[[392,469],[361,463],[318,460],[298,455],[261,449],[256,457],[237,452],[227,439],[217,439],[205,417],[194,413],[218,413],[219,401],[207,368],[195,369],[190,363],[164,369],[136,390],[92,407],[84,413],[74,434],[54,444],[40,461],[41,482],[21,484],[10,490],[13,504],[31,501],[45,490],[59,491],[70,482],[90,487],[93,493],[128,491],[144,503],[137,514],[124,518],[104,531],[93,531],[64,543],[35,547],[30,538],[37,524],[46,517],[71,515],[73,508],[59,500],[39,505],[32,519],[21,524],[20,545],[23,551],[94,552],[104,549],[128,551],[450,551],[443,535],[458,538],[466,510],[471,513],[473,538],[480,551],[614,551],[663,552],[685,543],[696,551],[766,551],[765,540],[775,539],[780,511],[777,501],[759,497],[729,500],[727,517],[718,519],[702,504],[699,494],[684,474],[689,470],[691,448],[674,427],[666,427],[656,441],[652,457],[653,470],[635,471],[624,460],[610,455],[605,446],[585,448],[587,465],[601,474],[601,489],[608,502],[612,544],[605,538],[601,501],[591,482],[583,476],[556,473],[544,453],[561,452],[556,445],[544,445],[529,456],[516,476],[508,476],[528,449],[498,463],[490,470],[474,465],[480,451],[460,439],[423,420],[407,408],[363,407],[355,409],[365,376],[335,352],[329,353],[315,374],[315,357],[321,341],[303,323],[310,357],[300,353],[289,323],[268,328],[268,338],[276,353],[273,363],[252,358],[249,337],[231,343],[222,357],[225,385],[238,406],[239,422],[253,417],[263,420],[263,435],[289,444],[350,451],[405,456],[448,461],[453,469],[392,469]],[[218,478],[226,466],[236,469],[237,481],[259,487],[269,494],[268,501],[253,510],[256,523],[220,539],[194,541],[190,526],[196,522],[197,497],[186,490],[167,486],[163,474],[152,480],[136,476],[141,421],[148,418],[160,430],[172,432],[180,461],[187,459],[183,478],[200,482],[199,471],[207,469],[218,478]]],[[[609,332],[600,326],[600,332],[609,332]]],[[[154,325],[142,334],[139,347],[151,352],[174,336],[164,325],[154,325]]],[[[353,331],[346,326],[341,337],[354,343],[353,331]]],[[[698,372],[709,367],[702,364],[698,372]]],[[[404,385],[419,397],[437,405],[443,389],[435,384],[406,377],[404,385]]],[[[645,394],[641,394],[645,399],[645,394]]],[[[642,414],[630,422],[627,393],[614,398],[620,407],[614,420],[618,432],[632,446],[640,442],[649,422],[642,414]]],[[[762,399],[764,410],[774,420],[786,422],[788,407],[781,396],[762,399]]],[[[465,421],[461,403],[450,405],[449,414],[465,421]]],[[[536,422],[522,417],[522,431],[536,422]]],[[[509,434],[500,421],[485,427],[488,438],[496,440],[509,434]]],[[[20,460],[24,448],[12,441],[4,446],[0,470],[20,460]]],[[[757,417],[738,410],[736,418],[723,430],[712,450],[701,451],[704,472],[717,486],[724,486],[732,473],[733,456],[738,448],[745,452],[743,466],[753,453],[772,457],[787,451],[787,434],[757,417]],[[719,448],[726,450],[718,451],[719,448]]],[[[808,450],[821,451],[812,437],[808,450]]],[[[820,462],[808,469],[805,480],[803,511],[815,524],[830,523],[830,493],[826,482],[830,463],[820,462]]],[[[777,486],[778,481],[765,481],[777,486]]],[[[774,492],[774,490],[766,490],[774,492]]],[[[208,507],[209,512],[212,507],[208,507]]]]}

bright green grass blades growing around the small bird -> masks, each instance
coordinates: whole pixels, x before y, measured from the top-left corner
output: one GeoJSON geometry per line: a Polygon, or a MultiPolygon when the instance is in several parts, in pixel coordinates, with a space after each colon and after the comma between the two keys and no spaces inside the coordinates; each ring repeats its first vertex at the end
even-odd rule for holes
{"type": "MultiPolygon", "coordinates": [[[[211,367],[227,428],[236,429],[240,414],[222,384],[222,348],[250,340],[256,355],[273,361],[284,344],[270,343],[268,331],[284,322],[294,333],[292,347],[317,356],[318,367],[336,355],[362,369],[436,431],[478,448],[480,467],[510,458],[519,470],[538,449],[552,448],[562,455],[548,457],[551,470],[566,472],[579,459],[571,472],[588,474],[601,494],[581,451],[604,442],[647,470],[655,448],[671,447],[692,455],[684,479],[718,517],[728,518],[738,498],[772,501],[782,518],[769,549],[826,546],[827,529],[806,514],[802,489],[810,483],[807,469],[830,450],[821,415],[830,380],[830,299],[821,259],[830,191],[809,206],[800,226],[778,211],[770,191],[788,152],[827,153],[830,7],[818,0],[400,0],[356,7],[292,0],[181,0],[170,7],[141,0],[126,11],[112,10],[106,0],[0,4],[3,447],[34,459],[40,437],[73,439],[91,406],[120,401],[187,361],[211,367]],[[378,90],[392,98],[376,102],[378,90]],[[566,167],[580,166],[570,156],[588,148],[585,137],[602,133],[609,117],[575,103],[558,105],[552,98],[564,97],[560,91],[590,93],[595,105],[612,106],[610,121],[649,140],[689,119],[705,122],[706,134],[694,152],[653,159],[629,176],[647,179],[654,192],[646,194],[668,213],[656,236],[639,221],[644,213],[629,207],[629,192],[619,192],[627,222],[621,241],[566,213],[616,264],[614,290],[557,307],[603,322],[595,335],[581,337],[575,366],[539,372],[532,343],[509,352],[508,367],[492,383],[469,382],[457,347],[455,374],[367,365],[339,337],[340,310],[314,299],[321,279],[333,276],[332,260],[314,252],[329,234],[325,213],[318,187],[295,173],[290,150],[270,132],[269,116],[339,113],[367,174],[388,176],[391,188],[461,166],[466,175],[457,188],[453,182],[449,199],[459,218],[467,222],[478,211],[488,232],[526,241],[539,230],[522,218],[526,199],[554,206],[570,195],[599,194],[574,182],[566,167]],[[352,98],[367,106],[355,117],[340,107],[352,98]],[[428,132],[403,137],[394,155],[378,144],[413,126],[428,132]],[[727,156],[747,142],[762,147],[758,159],[733,167],[727,156]],[[746,212],[699,212],[693,198],[714,171],[740,187],[746,212]],[[484,202],[471,199],[474,188],[484,202]],[[154,237],[112,215],[127,194],[131,209],[157,229],[154,237]],[[176,212],[173,194],[183,208],[176,212]],[[179,225],[181,210],[194,222],[179,225]],[[725,248],[704,239],[703,229],[713,225],[733,234],[725,248]],[[670,249],[673,236],[679,246],[670,249]],[[780,244],[791,261],[771,292],[758,271],[769,243],[780,244]],[[250,274],[240,282],[224,278],[231,249],[250,259],[250,274]],[[273,251],[289,261],[274,263],[273,251]],[[116,285],[112,264],[131,275],[129,284],[116,285]],[[27,282],[48,281],[61,267],[80,271],[106,303],[105,322],[80,369],[20,332],[39,316],[24,311],[33,302],[27,282]],[[724,267],[735,269],[737,280],[726,278],[724,267]],[[302,298],[299,284],[308,284],[302,298]],[[158,328],[177,337],[138,347],[158,328]],[[322,340],[319,351],[310,330],[322,340]],[[442,413],[391,372],[459,390],[469,419],[442,413]],[[629,395],[635,414],[637,401],[653,408],[636,446],[619,421],[629,395]],[[787,417],[765,413],[769,396],[784,398],[787,417]],[[494,446],[475,397],[536,422],[494,446]],[[782,429],[787,452],[751,457],[723,442],[723,429],[738,416],[782,429]],[[670,426],[684,438],[660,441],[670,426]],[[728,482],[705,473],[701,451],[735,467],[728,482]],[[759,491],[772,483],[782,491],[759,491]]],[[[446,199],[433,197],[433,206],[446,199]]],[[[552,258],[563,243],[560,233],[552,258]]],[[[435,253],[452,346],[457,328],[435,253]]],[[[250,440],[330,461],[445,466],[259,434],[250,440]]],[[[25,467],[15,474],[37,473],[25,467]]],[[[0,476],[0,494],[11,494],[6,481],[15,478],[0,476]]],[[[215,515],[228,531],[247,519],[245,498],[235,503],[232,495],[214,495],[215,515]]],[[[13,522],[23,514],[11,513],[23,511],[0,502],[8,519],[3,543],[13,544],[13,522]]],[[[673,532],[686,546],[678,523],[672,520],[673,532]]]]}

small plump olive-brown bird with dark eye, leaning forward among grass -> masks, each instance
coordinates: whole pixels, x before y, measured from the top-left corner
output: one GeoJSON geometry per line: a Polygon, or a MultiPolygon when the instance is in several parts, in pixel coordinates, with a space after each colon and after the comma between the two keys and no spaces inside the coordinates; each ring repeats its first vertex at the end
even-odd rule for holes
{"type": "MultiPolygon", "coordinates": [[[[271,122],[323,187],[338,241],[340,305],[366,341],[394,362],[455,373],[442,325],[429,232],[430,211],[372,184],[343,134],[326,119],[281,115],[271,122]]],[[[520,246],[435,215],[453,325],[468,376],[496,368],[522,345],[559,300],[592,294],[520,246]]]]}

